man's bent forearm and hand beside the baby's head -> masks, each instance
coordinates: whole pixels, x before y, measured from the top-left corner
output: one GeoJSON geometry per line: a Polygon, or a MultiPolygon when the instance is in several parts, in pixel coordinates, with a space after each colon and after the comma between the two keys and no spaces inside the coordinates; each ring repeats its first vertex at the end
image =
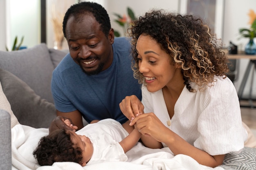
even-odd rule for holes
{"type": "Polygon", "coordinates": [[[55,131],[56,129],[79,130],[83,128],[82,114],[78,110],[67,113],[57,110],[56,115],[57,117],[52,121],[49,127],[49,134],[55,131]],[[73,128],[65,124],[65,119],[70,120],[70,122],[74,125],[73,128]],[[77,128],[75,126],[77,126],[77,128]]]}

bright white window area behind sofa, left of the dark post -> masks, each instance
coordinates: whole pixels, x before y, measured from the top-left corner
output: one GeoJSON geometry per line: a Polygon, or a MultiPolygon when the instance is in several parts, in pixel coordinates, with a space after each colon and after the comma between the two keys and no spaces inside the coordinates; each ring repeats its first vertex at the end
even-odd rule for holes
{"type": "Polygon", "coordinates": [[[40,0],[6,0],[7,46],[10,49],[18,36],[24,36],[22,46],[33,47],[40,43],[40,0]]]}

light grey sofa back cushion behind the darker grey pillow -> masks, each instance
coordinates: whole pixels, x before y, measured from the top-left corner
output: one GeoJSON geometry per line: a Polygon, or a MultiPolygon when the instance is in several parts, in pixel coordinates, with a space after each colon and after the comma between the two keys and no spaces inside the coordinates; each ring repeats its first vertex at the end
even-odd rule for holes
{"type": "Polygon", "coordinates": [[[53,102],[51,79],[54,65],[45,44],[18,51],[0,51],[0,68],[16,75],[36,94],[53,102]]]}

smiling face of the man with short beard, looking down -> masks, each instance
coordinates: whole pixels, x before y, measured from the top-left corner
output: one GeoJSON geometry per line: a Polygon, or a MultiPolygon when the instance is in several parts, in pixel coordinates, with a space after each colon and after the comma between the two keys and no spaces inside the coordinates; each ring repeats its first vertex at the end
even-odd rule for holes
{"type": "Polygon", "coordinates": [[[86,74],[99,74],[112,64],[113,30],[106,37],[93,15],[71,16],[67,21],[66,37],[70,56],[86,74]]]}

